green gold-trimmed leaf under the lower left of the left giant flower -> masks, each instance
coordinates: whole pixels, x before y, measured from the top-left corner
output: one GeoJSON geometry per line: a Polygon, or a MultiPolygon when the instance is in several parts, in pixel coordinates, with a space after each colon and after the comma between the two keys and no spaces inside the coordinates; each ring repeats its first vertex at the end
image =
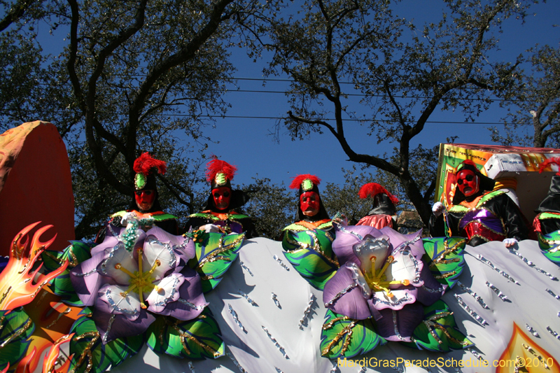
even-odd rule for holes
{"type": "Polygon", "coordinates": [[[109,367],[116,367],[126,358],[136,355],[144,345],[144,335],[119,338],[103,344],[95,323],[88,317],[78,318],[71,332],[76,334],[70,341],[70,354],[73,356],[69,373],[81,373],[88,369],[91,373],[105,372],[109,367]]]}

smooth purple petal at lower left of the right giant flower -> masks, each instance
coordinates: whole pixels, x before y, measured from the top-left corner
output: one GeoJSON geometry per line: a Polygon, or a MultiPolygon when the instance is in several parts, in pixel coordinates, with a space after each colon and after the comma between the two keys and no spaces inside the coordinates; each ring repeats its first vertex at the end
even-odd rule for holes
{"type": "Polygon", "coordinates": [[[335,276],[325,283],[323,303],[331,311],[349,318],[363,320],[372,316],[362,290],[356,286],[352,272],[346,266],[338,269],[335,276]]]}

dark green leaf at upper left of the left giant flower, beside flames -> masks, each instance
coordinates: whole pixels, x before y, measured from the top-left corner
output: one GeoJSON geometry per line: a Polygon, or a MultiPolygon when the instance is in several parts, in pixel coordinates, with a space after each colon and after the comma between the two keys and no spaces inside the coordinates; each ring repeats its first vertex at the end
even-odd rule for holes
{"type": "Polygon", "coordinates": [[[64,251],[45,250],[41,254],[44,268],[48,272],[59,268],[64,260],[68,260],[69,265],[66,270],[49,282],[52,292],[62,297],[66,304],[78,307],[83,307],[84,305],[80,298],[78,298],[78,295],[76,295],[76,291],[74,291],[70,281],[70,271],[84,260],[90,259],[92,257],[91,250],[92,246],[84,242],[71,241],[70,246],[66,247],[64,251]]]}

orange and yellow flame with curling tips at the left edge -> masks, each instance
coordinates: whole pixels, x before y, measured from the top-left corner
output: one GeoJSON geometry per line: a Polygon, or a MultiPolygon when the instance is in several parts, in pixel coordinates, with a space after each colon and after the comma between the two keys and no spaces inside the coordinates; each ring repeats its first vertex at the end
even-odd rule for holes
{"type": "Polygon", "coordinates": [[[45,227],[35,232],[31,240],[31,246],[29,246],[27,233],[39,223],[41,222],[39,221],[28,225],[17,234],[13,240],[8,265],[3,270],[0,278],[0,310],[15,309],[28,304],[48,281],[54,279],[68,267],[68,260],[65,260],[59,269],[50,272],[50,274],[43,275],[38,273],[43,265],[43,263],[41,263],[41,266],[34,272],[31,272],[39,255],[41,255],[45,248],[48,248],[56,238],[55,234],[55,237],[50,239],[50,241],[39,241],[41,235],[52,227],[52,225],[45,225],[45,227]],[[22,241],[24,238],[25,242],[22,241]],[[36,279],[36,281],[34,281],[34,279],[36,279]]]}

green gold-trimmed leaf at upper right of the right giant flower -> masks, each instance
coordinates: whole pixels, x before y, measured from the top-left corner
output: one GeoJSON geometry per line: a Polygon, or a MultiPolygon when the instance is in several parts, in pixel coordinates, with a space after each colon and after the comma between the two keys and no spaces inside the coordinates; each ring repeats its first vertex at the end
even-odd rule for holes
{"type": "Polygon", "coordinates": [[[463,272],[463,258],[467,239],[464,237],[435,237],[423,239],[424,262],[428,263],[430,272],[437,281],[449,288],[457,283],[458,276],[463,272]]]}

